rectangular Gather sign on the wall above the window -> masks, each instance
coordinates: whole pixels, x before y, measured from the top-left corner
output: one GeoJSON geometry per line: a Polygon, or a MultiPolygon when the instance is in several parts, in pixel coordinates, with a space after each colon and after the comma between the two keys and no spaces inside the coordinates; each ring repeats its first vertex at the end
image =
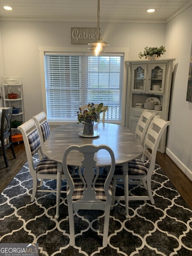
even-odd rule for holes
{"type": "Polygon", "coordinates": [[[92,43],[96,33],[96,28],[71,28],[71,44],[92,43]]]}

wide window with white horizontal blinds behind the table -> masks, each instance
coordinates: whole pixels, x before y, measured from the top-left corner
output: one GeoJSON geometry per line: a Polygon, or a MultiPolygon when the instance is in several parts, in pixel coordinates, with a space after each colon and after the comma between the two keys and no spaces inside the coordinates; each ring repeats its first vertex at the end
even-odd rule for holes
{"type": "MultiPolygon", "coordinates": [[[[47,117],[49,121],[77,120],[79,106],[108,105],[105,118],[120,121],[123,83],[122,54],[87,53],[44,55],[47,117]]],[[[101,116],[102,118],[102,116],[101,116]]]]}

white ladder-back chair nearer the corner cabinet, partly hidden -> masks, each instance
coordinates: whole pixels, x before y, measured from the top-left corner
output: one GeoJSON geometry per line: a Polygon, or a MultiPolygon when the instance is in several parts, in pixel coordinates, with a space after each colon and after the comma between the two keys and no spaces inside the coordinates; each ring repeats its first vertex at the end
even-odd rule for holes
{"type": "Polygon", "coordinates": [[[148,127],[151,123],[151,120],[156,116],[156,113],[151,113],[148,109],[145,109],[140,116],[140,119],[137,123],[137,127],[135,130],[135,137],[140,143],[143,145],[145,140],[145,135],[148,130],[148,127]]]}

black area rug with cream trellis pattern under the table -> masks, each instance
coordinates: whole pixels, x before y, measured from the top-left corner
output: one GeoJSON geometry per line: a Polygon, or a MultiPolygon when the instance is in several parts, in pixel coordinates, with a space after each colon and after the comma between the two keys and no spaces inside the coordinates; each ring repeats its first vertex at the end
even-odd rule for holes
{"type": "MultiPolygon", "coordinates": [[[[37,163],[38,154],[34,159],[37,163]]],[[[56,180],[44,180],[43,186],[54,190],[56,180]]],[[[132,195],[145,192],[142,186],[130,189],[132,195]]],[[[125,202],[115,204],[107,247],[102,247],[103,212],[76,212],[76,246],[71,247],[66,194],[61,194],[56,221],[55,193],[38,192],[31,202],[32,177],[26,163],[0,195],[0,243],[38,243],[40,256],[192,255],[192,211],[158,165],[152,190],[155,205],[129,202],[130,220],[125,218],[125,202]]]]}

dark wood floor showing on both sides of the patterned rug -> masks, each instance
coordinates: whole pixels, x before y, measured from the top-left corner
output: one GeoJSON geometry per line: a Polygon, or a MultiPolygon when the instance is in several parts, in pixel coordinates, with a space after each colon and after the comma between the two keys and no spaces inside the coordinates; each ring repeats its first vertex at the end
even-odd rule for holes
{"type": "MultiPolygon", "coordinates": [[[[16,159],[13,159],[10,149],[7,149],[9,159],[9,167],[5,167],[3,156],[0,156],[0,192],[6,188],[9,182],[15,177],[17,172],[26,163],[26,153],[23,142],[20,144],[14,143],[16,159]]],[[[192,209],[192,181],[190,181],[183,172],[173,163],[166,155],[157,152],[157,163],[172,181],[177,191],[182,195],[186,203],[192,209]]]]}

